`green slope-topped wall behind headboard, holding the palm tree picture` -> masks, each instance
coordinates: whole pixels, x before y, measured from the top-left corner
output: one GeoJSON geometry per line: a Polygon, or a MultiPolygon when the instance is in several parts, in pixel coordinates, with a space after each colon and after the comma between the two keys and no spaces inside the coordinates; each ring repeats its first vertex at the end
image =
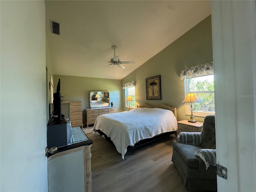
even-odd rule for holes
{"type": "MultiPolygon", "coordinates": [[[[180,80],[180,70],[212,61],[212,24],[211,16],[208,16],[123,78],[122,84],[136,82],[136,105],[146,103],[156,106],[163,103],[177,108],[178,120],[189,119],[185,114],[185,104],[182,103],[185,95],[184,80],[180,80]],[[146,100],[146,78],[157,75],[161,76],[162,99],[146,100]]],[[[122,100],[122,108],[126,109],[124,90],[122,100]]],[[[204,117],[196,116],[195,119],[203,122],[204,117]]]]}

